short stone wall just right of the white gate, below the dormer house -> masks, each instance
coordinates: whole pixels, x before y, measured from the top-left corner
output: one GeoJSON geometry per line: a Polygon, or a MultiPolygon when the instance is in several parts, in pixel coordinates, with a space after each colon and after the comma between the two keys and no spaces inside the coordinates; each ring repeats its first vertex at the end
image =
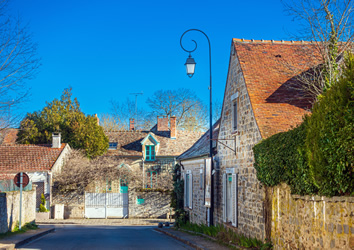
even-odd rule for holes
{"type": "Polygon", "coordinates": [[[129,218],[166,218],[170,203],[168,193],[129,190],[129,218]],[[137,196],[144,199],[144,204],[137,204],[137,196]]]}

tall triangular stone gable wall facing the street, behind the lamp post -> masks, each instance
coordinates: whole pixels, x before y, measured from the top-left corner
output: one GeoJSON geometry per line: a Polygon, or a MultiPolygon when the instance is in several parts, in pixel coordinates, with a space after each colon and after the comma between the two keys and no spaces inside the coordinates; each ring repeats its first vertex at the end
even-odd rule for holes
{"type": "Polygon", "coordinates": [[[261,140],[261,135],[254,118],[243,72],[233,46],[231,47],[229,73],[221,117],[218,143],[218,165],[221,171],[218,171],[215,178],[214,200],[216,201],[216,207],[214,220],[217,223],[223,223],[222,174],[226,168],[235,168],[235,173],[238,173],[238,226],[233,229],[238,233],[264,240],[265,192],[256,177],[252,151],[252,147],[261,140]],[[232,96],[237,92],[238,131],[234,132],[232,128],[232,96]],[[223,146],[220,141],[231,148],[236,146],[236,154],[223,146]]]}

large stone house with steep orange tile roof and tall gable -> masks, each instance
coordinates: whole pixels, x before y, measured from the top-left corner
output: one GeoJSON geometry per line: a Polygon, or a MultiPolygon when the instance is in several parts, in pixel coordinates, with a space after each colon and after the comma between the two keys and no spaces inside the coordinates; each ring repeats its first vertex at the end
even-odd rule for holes
{"type": "MultiPolygon", "coordinates": [[[[214,157],[214,224],[270,238],[271,208],[253,167],[252,148],[302,122],[312,99],[300,90],[299,79],[319,63],[310,42],[232,40],[214,157]]],[[[198,202],[193,195],[193,205],[198,202]]],[[[191,220],[205,223],[194,212],[191,220]]]]}

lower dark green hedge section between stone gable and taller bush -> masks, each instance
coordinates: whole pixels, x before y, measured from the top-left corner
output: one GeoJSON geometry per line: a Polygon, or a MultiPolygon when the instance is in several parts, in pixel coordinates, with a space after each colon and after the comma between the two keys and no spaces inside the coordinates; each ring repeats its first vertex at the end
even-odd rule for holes
{"type": "Polygon", "coordinates": [[[287,183],[295,194],[312,194],[313,185],[306,161],[306,122],[287,132],[275,134],[255,145],[254,167],[267,186],[287,183]]]}

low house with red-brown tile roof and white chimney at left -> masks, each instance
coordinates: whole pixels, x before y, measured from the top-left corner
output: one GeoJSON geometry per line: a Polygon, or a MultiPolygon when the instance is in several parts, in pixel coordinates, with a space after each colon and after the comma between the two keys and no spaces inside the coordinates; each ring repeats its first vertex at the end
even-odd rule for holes
{"type": "MultiPolygon", "coordinates": [[[[26,145],[3,142],[0,145],[0,180],[11,181],[19,172],[26,172],[36,188],[36,208],[41,195],[52,203],[53,175],[60,172],[65,157],[70,152],[67,143],[61,143],[61,135],[53,134],[52,145],[26,145]]],[[[0,190],[1,191],[1,190],[0,190]]]]}

